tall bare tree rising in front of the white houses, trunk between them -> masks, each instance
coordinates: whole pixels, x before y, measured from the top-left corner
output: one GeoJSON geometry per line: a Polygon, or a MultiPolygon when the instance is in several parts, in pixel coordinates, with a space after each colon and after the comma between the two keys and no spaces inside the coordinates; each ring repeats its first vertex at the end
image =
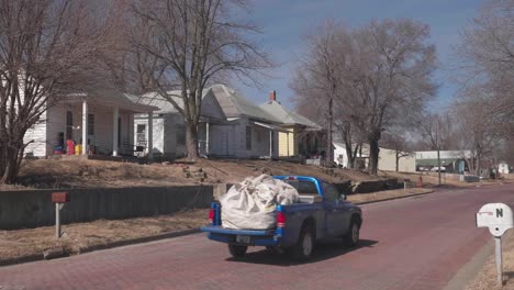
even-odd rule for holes
{"type": "Polygon", "coordinates": [[[244,1],[133,0],[131,11],[132,30],[144,32],[131,37],[141,86],[157,90],[182,114],[188,158],[195,160],[203,89],[216,78],[252,79],[256,70],[270,67],[248,37],[258,31],[231,14],[247,11],[244,1]]]}

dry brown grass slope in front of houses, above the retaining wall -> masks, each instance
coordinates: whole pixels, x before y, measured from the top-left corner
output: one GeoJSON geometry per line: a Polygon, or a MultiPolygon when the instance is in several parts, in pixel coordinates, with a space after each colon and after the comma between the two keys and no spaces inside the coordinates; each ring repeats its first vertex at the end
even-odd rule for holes
{"type": "Polygon", "coordinates": [[[21,170],[19,182],[21,186],[34,188],[141,187],[200,182],[198,179],[188,178],[185,175],[185,167],[188,168],[187,170],[201,168],[206,172],[203,182],[208,183],[234,183],[246,177],[261,174],[314,176],[328,181],[361,181],[378,178],[360,171],[338,168],[333,169],[334,174],[327,174],[315,166],[287,161],[200,159],[194,165],[182,163],[139,165],[74,157],[29,160],[21,170]]]}

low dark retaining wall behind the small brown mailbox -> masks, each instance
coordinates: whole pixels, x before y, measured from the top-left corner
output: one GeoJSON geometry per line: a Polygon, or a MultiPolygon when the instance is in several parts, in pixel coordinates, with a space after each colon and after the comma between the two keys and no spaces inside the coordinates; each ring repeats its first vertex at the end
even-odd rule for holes
{"type": "MultiPolygon", "coordinates": [[[[169,214],[185,208],[209,208],[217,185],[74,189],[60,211],[63,223],[90,222],[169,214]]],[[[22,190],[0,192],[0,230],[55,224],[52,192],[22,190]]]]}

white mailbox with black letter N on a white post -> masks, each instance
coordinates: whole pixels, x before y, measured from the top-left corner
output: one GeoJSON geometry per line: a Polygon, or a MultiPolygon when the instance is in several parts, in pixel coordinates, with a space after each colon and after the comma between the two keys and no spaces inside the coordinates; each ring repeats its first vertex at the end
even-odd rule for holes
{"type": "Polygon", "coordinates": [[[502,235],[514,226],[511,208],[504,203],[488,203],[477,213],[477,227],[489,227],[494,236],[498,282],[503,286],[502,235]]]}

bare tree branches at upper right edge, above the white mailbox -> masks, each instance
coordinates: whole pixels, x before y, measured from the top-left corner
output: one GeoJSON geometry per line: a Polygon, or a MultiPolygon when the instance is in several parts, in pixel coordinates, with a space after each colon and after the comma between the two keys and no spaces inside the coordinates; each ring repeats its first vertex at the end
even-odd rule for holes
{"type": "MultiPolygon", "coordinates": [[[[457,46],[462,90],[487,91],[495,115],[512,125],[514,113],[514,1],[491,0],[463,31],[457,46]]],[[[509,130],[511,137],[513,130],[509,130]]]]}

